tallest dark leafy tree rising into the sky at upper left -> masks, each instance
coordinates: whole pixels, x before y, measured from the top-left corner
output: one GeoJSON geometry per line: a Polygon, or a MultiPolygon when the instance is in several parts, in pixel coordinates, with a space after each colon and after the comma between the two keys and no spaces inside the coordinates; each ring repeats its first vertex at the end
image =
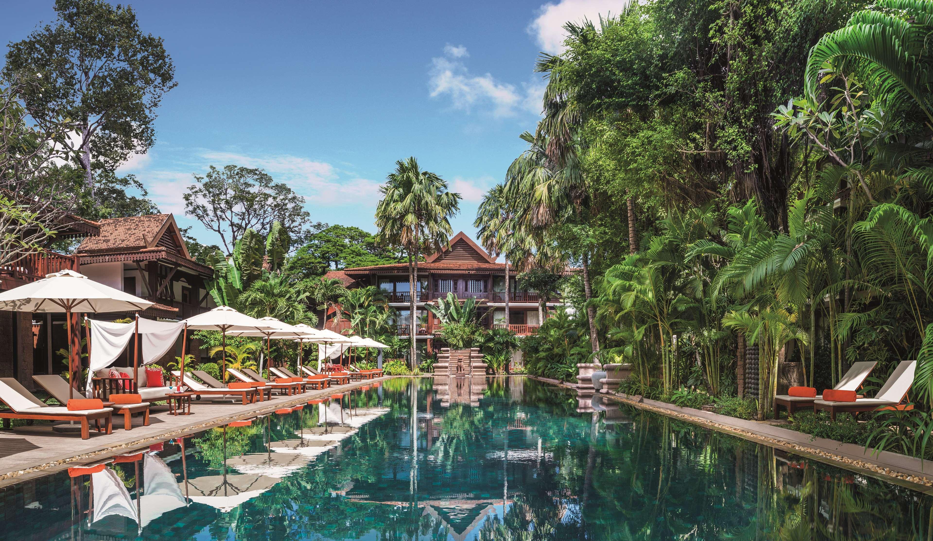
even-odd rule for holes
{"type": "Polygon", "coordinates": [[[22,89],[34,118],[77,123],[72,145],[92,190],[96,169],[113,171],[154,144],[155,110],[177,84],[174,64],[130,6],[56,0],[55,11],[53,24],[9,45],[4,73],[35,80],[22,89]]]}

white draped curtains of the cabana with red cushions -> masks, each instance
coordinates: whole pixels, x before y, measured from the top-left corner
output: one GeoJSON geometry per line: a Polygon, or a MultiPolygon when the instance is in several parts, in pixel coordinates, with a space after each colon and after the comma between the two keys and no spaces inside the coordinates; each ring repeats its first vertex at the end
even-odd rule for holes
{"type": "MultiPolygon", "coordinates": [[[[113,364],[132,340],[136,323],[112,323],[89,319],[91,327],[91,373],[113,364]]],[[[139,341],[143,350],[143,366],[151,365],[167,354],[178,334],[185,328],[184,323],[139,319],[139,341]]],[[[88,379],[91,390],[91,379],[88,379]]]]}

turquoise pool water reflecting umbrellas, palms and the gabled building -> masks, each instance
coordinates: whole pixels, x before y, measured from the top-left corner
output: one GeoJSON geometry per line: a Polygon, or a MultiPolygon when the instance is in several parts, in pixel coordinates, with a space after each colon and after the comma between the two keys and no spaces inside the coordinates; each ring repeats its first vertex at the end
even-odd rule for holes
{"type": "Polygon", "coordinates": [[[522,378],[391,380],[142,451],[0,489],[0,537],[933,534],[920,492],[522,378]]]}

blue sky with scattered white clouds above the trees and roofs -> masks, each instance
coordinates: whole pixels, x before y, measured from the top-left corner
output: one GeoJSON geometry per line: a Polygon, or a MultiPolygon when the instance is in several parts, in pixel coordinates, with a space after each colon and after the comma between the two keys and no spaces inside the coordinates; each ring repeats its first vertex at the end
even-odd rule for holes
{"type": "MultiPolygon", "coordinates": [[[[131,4],[143,31],[164,38],[178,87],[158,111],[156,145],[120,172],[214,243],[181,198],[209,165],[261,167],[306,198],[313,220],[373,231],[378,187],[409,156],[463,195],[453,230],[473,236],[482,193],[536,125],[538,51],[559,51],[564,21],[626,2],[131,4]]],[[[5,7],[4,52],[53,21],[52,5],[5,7]]]]}

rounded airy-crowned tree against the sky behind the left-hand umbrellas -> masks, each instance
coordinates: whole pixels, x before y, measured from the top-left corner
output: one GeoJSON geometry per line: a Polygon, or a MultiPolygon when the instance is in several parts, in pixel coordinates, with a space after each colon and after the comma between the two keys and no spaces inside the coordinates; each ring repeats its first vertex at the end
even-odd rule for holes
{"type": "Polygon", "coordinates": [[[276,221],[293,243],[303,240],[305,224],[311,221],[304,198],[263,170],[236,165],[220,170],[212,165],[205,175],[195,174],[194,180],[197,184],[184,195],[185,214],[220,235],[228,254],[246,229],[265,235],[276,221]]]}

